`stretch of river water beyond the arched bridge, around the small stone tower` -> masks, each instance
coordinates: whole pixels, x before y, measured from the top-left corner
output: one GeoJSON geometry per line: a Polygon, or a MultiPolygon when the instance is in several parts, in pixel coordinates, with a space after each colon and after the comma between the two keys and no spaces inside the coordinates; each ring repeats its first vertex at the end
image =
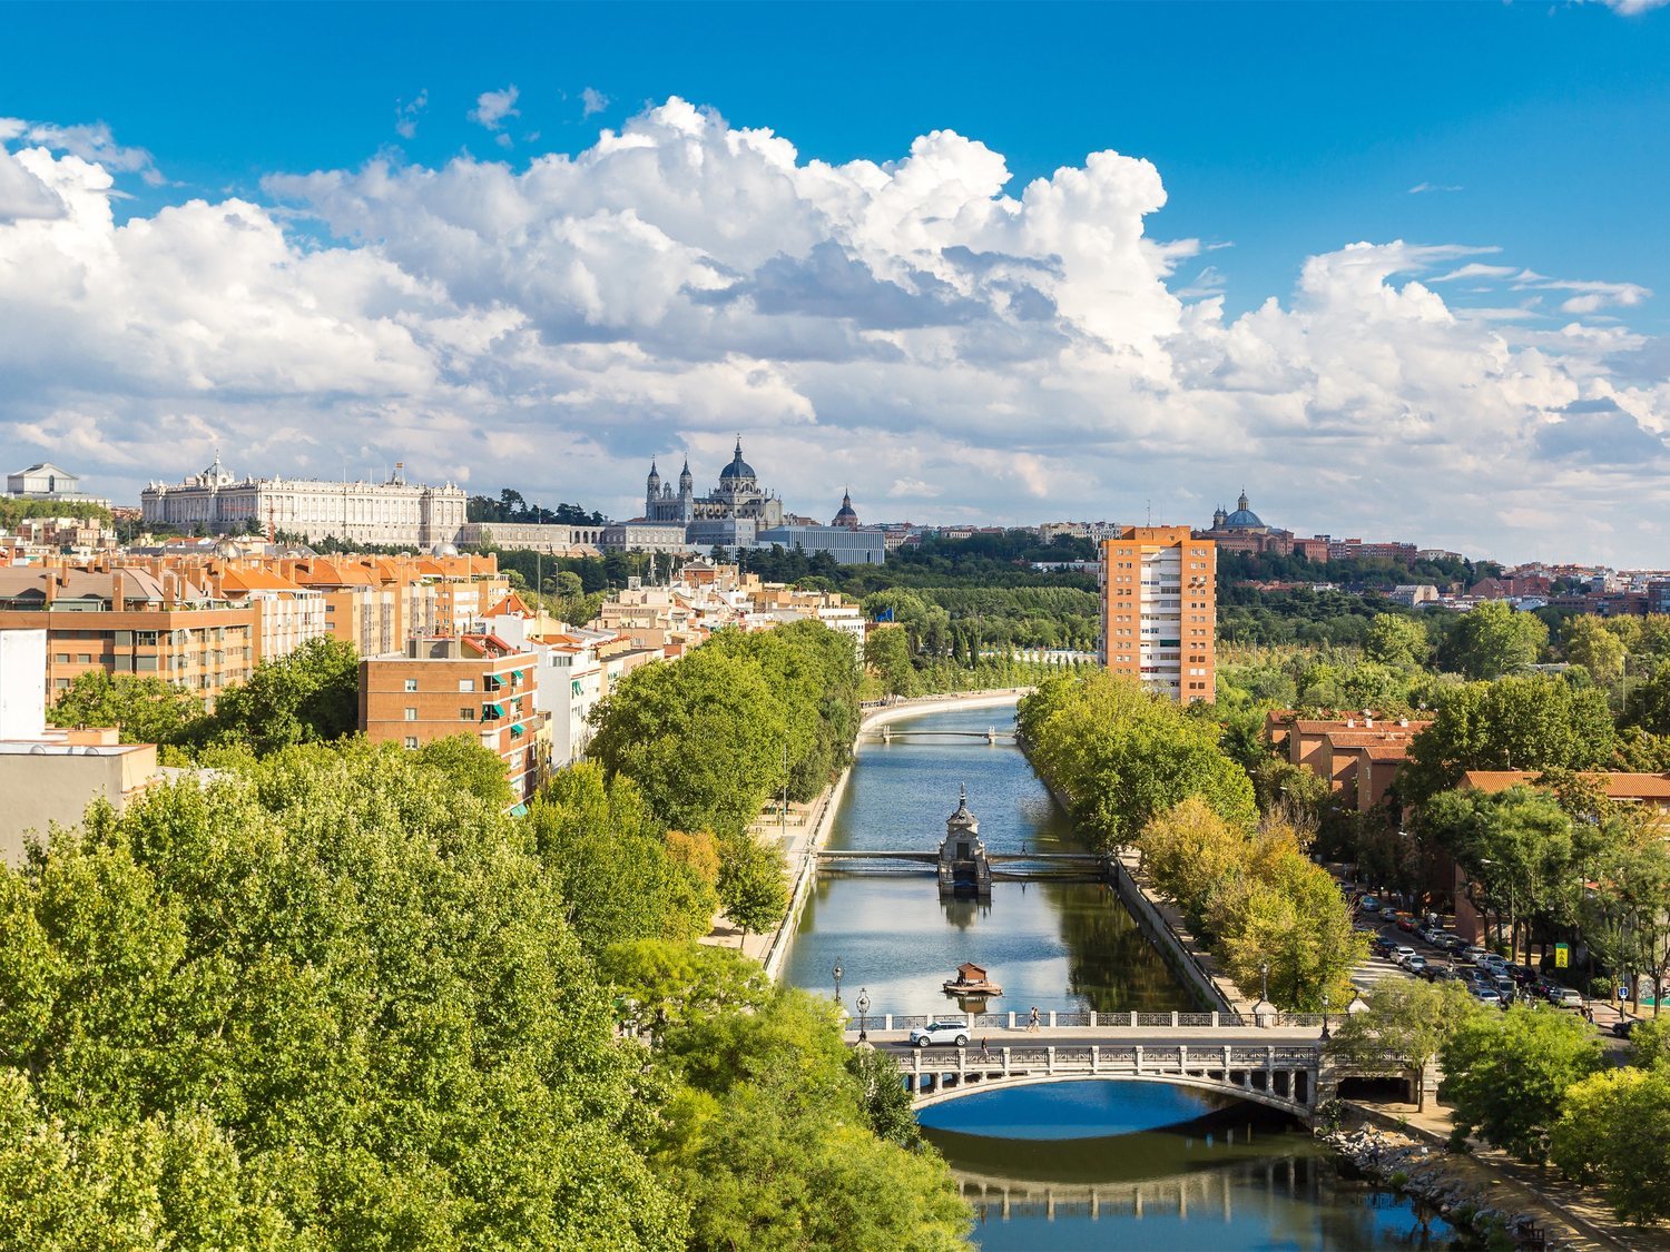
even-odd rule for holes
{"type": "MultiPolygon", "coordinates": [[[[1010,709],[942,713],[900,729],[1012,726],[1010,709]]],[[[967,738],[895,738],[858,748],[830,845],[932,850],[967,783],[989,851],[1075,851],[1072,830],[1010,745],[967,738]]],[[[940,983],[962,962],[990,970],[1004,995],[987,1012],[1157,1012],[1194,1008],[1136,921],[1102,883],[999,881],[992,898],[940,900],[930,873],[865,866],[827,875],[807,901],[787,977],[833,992],[865,987],[872,1015],[959,1012],[940,983]]],[[[848,1005],[850,1008],[850,1005],[848,1005]]],[[[970,1005],[970,1012],[982,1012],[970,1005]]]]}

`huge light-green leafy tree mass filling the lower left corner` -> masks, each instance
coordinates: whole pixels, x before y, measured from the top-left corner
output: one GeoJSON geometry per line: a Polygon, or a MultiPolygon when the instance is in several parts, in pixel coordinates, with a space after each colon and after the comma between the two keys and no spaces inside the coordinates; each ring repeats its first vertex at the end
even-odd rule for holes
{"type": "Polygon", "coordinates": [[[553,881],[414,753],[289,748],[95,806],[0,868],[0,918],[12,1232],[685,1244],[553,881]]]}

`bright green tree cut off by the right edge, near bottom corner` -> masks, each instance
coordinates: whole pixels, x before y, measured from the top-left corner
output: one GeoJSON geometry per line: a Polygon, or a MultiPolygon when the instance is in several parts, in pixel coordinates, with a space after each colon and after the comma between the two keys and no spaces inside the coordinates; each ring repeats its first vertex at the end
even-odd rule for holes
{"type": "Polygon", "coordinates": [[[1670,1217],[1670,1070],[1593,1073],[1565,1095],[1550,1157],[1573,1180],[1600,1184],[1625,1222],[1670,1217]]]}

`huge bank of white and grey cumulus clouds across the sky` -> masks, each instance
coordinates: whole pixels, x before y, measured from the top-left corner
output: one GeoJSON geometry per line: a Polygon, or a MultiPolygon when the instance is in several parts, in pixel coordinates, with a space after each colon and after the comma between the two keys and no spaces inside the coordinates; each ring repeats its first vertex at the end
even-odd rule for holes
{"type": "MultiPolygon", "coordinates": [[[[514,102],[486,93],[478,120],[514,102]]],[[[404,459],[631,516],[651,452],[688,449],[705,484],[741,429],[820,516],[850,481],[918,521],[1152,499],[1204,523],[1189,509],[1246,479],[1306,533],[1546,554],[1513,517],[1558,494],[1561,541],[1590,554],[1670,538],[1607,523],[1623,497],[1667,514],[1642,442],[1670,429],[1660,349],[1583,310],[1440,294],[1650,292],[1379,240],[1229,316],[1191,264],[1209,245],[1151,230],[1161,172],[1117,152],[1025,185],[949,130],[830,164],[675,97],[573,155],[377,159],[115,225],[122,170],[25,144],[0,147],[50,200],[0,219],[7,437],[73,451],[117,496],[220,444],[240,469],[404,459]]]]}

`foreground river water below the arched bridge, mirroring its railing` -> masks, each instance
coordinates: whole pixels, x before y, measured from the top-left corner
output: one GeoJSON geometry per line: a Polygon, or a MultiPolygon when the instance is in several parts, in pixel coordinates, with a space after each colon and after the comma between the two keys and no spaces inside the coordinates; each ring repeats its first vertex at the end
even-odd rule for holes
{"type": "Polygon", "coordinates": [[[1060,1083],[952,1100],[922,1120],[975,1209],[985,1249],[1453,1240],[1435,1214],[1349,1175],[1278,1113],[1199,1092],[1060,1083]]]}

